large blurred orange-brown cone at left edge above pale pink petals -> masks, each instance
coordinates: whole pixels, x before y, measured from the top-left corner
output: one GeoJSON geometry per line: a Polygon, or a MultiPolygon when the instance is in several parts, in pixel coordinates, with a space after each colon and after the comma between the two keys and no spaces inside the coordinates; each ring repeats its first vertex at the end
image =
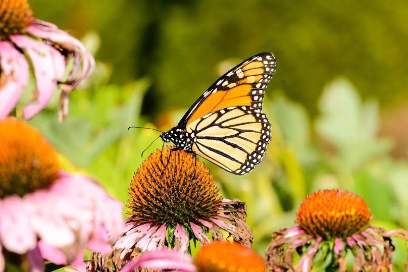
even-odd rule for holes
{"type": "Polygon", "coordinates": [[[56,151],[37,130],[12,117],[0,122],[0,198],[48,188],[58,170],[56,151]]]}

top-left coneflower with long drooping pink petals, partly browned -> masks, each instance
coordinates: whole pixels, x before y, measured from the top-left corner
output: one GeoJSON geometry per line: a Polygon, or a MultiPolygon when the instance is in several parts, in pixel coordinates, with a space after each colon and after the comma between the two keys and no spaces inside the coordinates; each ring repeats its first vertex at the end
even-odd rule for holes
{"type": "Polygon", "coordinates": [[[61,88],[60,122],[68,113],[68,93],[93,72],[84,45],[56,25],[32,17],[26,0],[0,2],[0,120],[16,106],[34,71],[36,87],[23,109],[30,119],[61,88]]]}

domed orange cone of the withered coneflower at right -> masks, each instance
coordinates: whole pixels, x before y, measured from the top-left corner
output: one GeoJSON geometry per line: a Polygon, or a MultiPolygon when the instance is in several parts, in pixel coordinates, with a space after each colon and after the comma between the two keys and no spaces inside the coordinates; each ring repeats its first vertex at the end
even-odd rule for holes
{"type": "Polygon", "coordinates": [[[324,239],[347,238],[363,231],[372,221],[369,206],[360,196],[342,190],[310,194],[297,209],[296,223],[324,239]]]}

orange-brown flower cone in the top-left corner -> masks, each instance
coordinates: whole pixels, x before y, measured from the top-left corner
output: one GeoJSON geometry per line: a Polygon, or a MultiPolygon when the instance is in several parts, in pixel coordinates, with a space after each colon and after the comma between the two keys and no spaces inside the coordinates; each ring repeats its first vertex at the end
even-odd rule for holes
{"type": "Polygon", "coordinates": [[[0,1],[0,38],[21,33],[32,21],[27,0],[0,1]]]}

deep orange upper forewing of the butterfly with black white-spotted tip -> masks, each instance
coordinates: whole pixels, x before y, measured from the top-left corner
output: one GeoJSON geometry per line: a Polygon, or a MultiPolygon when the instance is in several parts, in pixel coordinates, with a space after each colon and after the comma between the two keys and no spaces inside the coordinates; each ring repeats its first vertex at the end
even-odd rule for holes
{"type": "Polygon", "coordinates": [[[262,110],[265,89],[275,73],[272,53],[255,55],[219,78],[190,107],[178,124],[187,128],[192,122],[210,113],[232,106],[247,106],[262,110]]]}

